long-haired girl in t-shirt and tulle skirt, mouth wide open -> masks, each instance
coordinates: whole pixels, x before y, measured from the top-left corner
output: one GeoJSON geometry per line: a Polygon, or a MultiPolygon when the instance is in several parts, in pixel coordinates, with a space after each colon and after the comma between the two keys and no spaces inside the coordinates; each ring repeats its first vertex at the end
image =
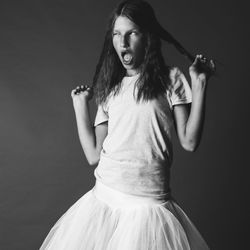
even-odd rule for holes
{"type": "Polygon", "coordinates": [[[171,128],[185,150],[197,149],[215,65],[197,55],[190,88],[177,67],[165,65],[161,39],[193,59],[147,2],[124,1],[114,10],[93,87],[71,92],[96,183],[56,222],[40,249],[209,249],[171,196],[169,178],[171,128]],[[92,126],[88,101],[94,94],[92,126]]]}

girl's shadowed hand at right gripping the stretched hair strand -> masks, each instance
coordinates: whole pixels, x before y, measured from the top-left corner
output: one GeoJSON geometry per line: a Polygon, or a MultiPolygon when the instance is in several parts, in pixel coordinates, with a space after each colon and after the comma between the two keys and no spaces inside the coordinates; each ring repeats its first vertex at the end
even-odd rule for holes
{"type": "Polygon", "coordinates": [[[203,55],[197,55],[189,67],[192,80],[208,80],[215,73],[215,63],[203,55]]]}

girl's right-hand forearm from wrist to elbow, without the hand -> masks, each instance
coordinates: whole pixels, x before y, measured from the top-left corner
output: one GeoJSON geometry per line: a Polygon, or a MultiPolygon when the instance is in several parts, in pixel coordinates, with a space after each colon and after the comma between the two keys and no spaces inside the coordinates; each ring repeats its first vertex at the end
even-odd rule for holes
{"type": "Polygon", "coordinates": [[[185,137],[192,151],[198,147],[202,136],[205,120],[206,88],[206,80],[192,81],[192,104],[185,129],[185,137]]]}

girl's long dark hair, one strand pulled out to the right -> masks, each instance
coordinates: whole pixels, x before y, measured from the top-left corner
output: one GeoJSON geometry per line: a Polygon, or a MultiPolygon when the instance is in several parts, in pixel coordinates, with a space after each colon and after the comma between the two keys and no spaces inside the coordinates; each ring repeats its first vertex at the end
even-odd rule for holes
{"type": "Polygon", "coordinates": [[[103,49],[96,66],[93,88],[97,104],[104,102],[111,92],[114,95],[119,93],[121,80],[126,74],[112,43],[114,23],[119,16],[125,16],[134,22],[145,37],[145,56],[142,65],[140,65],[140,76],[135,84],[135,87],[138,88],[136,101],[156,98],[164,93],[168,87],[170,67],[165,64],[162,56],[161,39],[172,43],[190,60],[194,59],[162,28],[150,4],[143,0],[123,1],[115,8],[110,17],[103,49]]]}

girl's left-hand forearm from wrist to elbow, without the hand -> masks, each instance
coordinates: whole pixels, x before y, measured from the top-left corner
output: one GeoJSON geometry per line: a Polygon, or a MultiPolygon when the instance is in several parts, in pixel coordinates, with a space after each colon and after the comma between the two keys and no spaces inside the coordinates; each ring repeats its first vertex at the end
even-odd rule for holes
{"type": "Polygon", "coordinates": [[[91,124],[88,102],[75,109],[76,122],[80,143],[89,164],[97,161],[96,136],[91,124]]]}

